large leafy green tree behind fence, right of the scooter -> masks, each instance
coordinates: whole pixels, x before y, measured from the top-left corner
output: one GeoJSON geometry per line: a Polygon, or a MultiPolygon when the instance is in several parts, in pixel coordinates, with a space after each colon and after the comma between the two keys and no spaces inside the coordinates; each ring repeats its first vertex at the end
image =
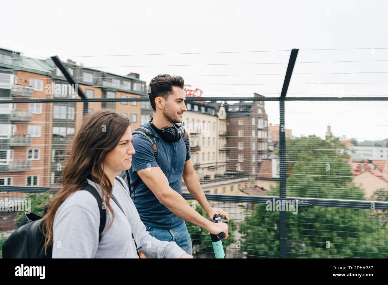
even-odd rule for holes
{"type": "MultiPolygon", "coordinates": [[[[352,182],[348,149],[338,138],[316,136],[287,140],[288,197],[364,199],[352,182]]],[[[268,195],[279,197],[279,185],[268,195]]],[[[248,257],[280,257],[279,211],[265,204],[248,210],[240,229],[248,257]]],[[[386,225],[371,209],[298,206],[286,211],[289,258],[387,257],[386,225]]]]}

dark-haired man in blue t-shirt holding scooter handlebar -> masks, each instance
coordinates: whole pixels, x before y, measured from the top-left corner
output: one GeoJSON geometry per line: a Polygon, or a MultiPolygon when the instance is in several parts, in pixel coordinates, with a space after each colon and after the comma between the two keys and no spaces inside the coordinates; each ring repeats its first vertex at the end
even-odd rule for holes
{"type": "Polygon", "coordinates": [[[171,128],[175,123],[182,123],[183,113],[187,111],[183,88],[184,80],[180,76],[161,74],[150,81],[148,95],[154,116],[152,123],[150,121],[143,127],[158,135],[155,138],[158,161],[155,160],[151,141],[143,135],[134,134],[132,143],[135,154],[132,155],[129,174],[131,191],[139,178],[142,180],[131,197],[146,230],[159,240],[175,241],[187,254],[192,255],[191,238],[185,221],[215,235],[224,232],[227,238],[227,225],[214,223],[213,216],[221,214],[227,220],[230,218],[227,212],[213,209],[208,203],[194,171],[190,151],[186,155],[183,134],[180,138],[177,135],[173,141],[161,134],[164,127],[171,128]],[[211,221],[192,209],[182,197],[182,177],[187,189],[211,221]]]}

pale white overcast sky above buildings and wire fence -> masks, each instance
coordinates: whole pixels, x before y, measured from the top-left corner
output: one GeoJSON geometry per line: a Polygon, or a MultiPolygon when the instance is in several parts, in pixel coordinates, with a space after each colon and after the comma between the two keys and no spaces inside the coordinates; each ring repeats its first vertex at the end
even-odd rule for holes
{"type": "MultiPolygon", "coordinates": [[[[147,83],[159,73],[180,75],[204,97],[278,97],[290,50],[299,48],[294,73],[304,74],[293,75],[288,96],[387,96],[388,61],[302,63],[388,60],[388,49],[378,49],[388,48],[387,12],[387,2],[372,0],[12,1],[2,4],[0,47],[136,72],[147,83]],[[307,50],[334,48],[366,49],[307,50]],[[275,52],[247,52],[268,50],[275,52]],[[178,53],[187,54],[106,56],[178,53]]],[[[269,123],[279,124],[278,103],[265,106],[269,123]]],[[[286,102],[286,128],[324,137],[330,123],[335,136],[383,139],[387,107],[387,101],[286,102]]]]}

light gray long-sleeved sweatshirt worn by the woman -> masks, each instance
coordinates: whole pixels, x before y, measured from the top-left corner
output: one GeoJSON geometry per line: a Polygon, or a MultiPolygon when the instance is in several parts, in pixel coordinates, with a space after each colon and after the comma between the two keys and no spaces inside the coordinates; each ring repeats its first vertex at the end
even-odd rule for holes
{"type": "MultiPolygon", "coordinates": [[[[147,258],[179,258],[185,251],[176,242],[160,241],[152,237],[140,220],[129,189],[114,181],[113,195],[117,204],[110,200],[114,211],[111,227],[104,229],[99,242],[100,212],[96,199],[87,191],[70,195],[58,208],[54,218],[54,242],[52,258],[139,258],[133,237],[140,252],[147,258]]],[[[87,180],[100,193],[99,185],[87,180]]],[[[107,210],[106,225],[111,218],[107,210]]]]}

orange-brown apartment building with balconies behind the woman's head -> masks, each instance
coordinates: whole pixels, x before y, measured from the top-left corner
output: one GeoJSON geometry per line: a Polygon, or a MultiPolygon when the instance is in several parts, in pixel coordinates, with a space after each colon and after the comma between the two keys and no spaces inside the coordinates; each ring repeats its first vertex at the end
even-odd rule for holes
{"type": "MultiPolygon", "coordinates": [[[[63,63],[88,98],[147,96],[139,74],[126,76],[63,63]]],[[[51,59],[31,59],[0,49],[0,98],[76,98],[51,59]]],[[[147,96],[148,97],[148,96],[147,96]]],[[[139,102],[89,102],[88,112],[115,109],[140,126],[139,102]]],[[[65,151],[83,119],[82,102],[0,104],[0,185],[54,185],[65,166],[65,151]]]]}

